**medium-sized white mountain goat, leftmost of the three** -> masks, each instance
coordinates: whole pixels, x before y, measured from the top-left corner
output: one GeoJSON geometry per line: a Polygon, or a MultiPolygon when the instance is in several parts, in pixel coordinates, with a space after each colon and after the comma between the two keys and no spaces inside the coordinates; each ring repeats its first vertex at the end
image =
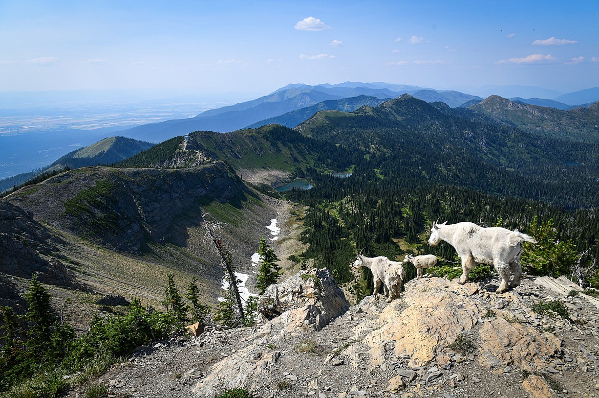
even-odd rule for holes
{"type": "Polygon", "coordinates": [[[360,267],[366,267],[373,273],[373,296],[379,293],[381,284],[383,284],[385,296],[388,297],[387,302],[393,301],[400,295],[404,278],[406,278],[406,271],[401,261],[391,261],[384,256],[371,258],[359,254],[353,263],[353,269],[358,271],[360,267]]]}

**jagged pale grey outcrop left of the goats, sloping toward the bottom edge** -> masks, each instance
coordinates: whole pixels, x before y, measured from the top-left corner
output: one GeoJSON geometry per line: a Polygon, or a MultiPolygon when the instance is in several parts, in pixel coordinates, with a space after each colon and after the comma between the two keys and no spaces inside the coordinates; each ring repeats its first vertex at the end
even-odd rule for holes
{"type": "Polygon", "coordinates": [[[326,269],[299,271],[283,283],[272,284],[258,301],[261,314],[258,324],[262,322],[262,326],[243,341],[244,348],[212,366],[193,392],[213,397],[224,388],[248,385],[257,388],[270,377],[269,369],[281,357],[280,350],[268,349],[265,345],[276,346],[282,339],[297,336],[302,330],[322,330],[348,308],[343,290],[326,269]],[[274,313],[280,316],[267,320],[274,313]]]}

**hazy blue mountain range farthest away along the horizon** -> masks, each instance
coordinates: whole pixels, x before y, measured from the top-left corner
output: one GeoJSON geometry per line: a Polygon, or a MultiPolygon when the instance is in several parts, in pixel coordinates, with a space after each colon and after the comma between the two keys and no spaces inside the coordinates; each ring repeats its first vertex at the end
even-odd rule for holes
{"type": "MultiPolygon", "coordinates": [[[[491,90],[493,87],[487,87],[491,90]]],[[[536,93],[547,94],[553,96],[553,99],[543,99],[541,97],[511,97],[513,103],[529,104],[534,106],[543,106],[549,109],[559,109],[567,111],[576,108],[577,105],[588,107],[592,102],[599,100],[599,88],[589,88],[586,90],[576,91],[574,93],[561,94],[548,90],[533,90],[534,87],[495,87],[498,91],[509,91],[510,93],[536,93]],[[526,90],[525,90],[526,89],[526,90]]],[[[410,94],[415,98],[425,100],[426,102],[443,102],[451,108],[467,108],[483,101],[482,97],[471,94],[464,94],[459,91],[451,90],[434,90],[432,88],[418,87],[413,85],[388,84],[384,82],[364,83],[364,82],[344,82],[341,84],[289,84],[279,88],[267,96],[260,97],[255,100],[250,100],[243,103],[237,103],[231,106],[222,108],[210,109],[202,112],[195,117],[168,120],[162,123],[144,124],[126,130],[120,130],[116,133],[137,140],[149,142],[162,142],[174,136],[191,133],[192,131],[216,131],[226,132],[235,131],[246,127],[259,127],[263,124],[277,123],[288,127],[295,127],[302,121],[311,117],[315,112],[324,109],[336,109],[338,111],[355,111],[361,106],[376,106],[378,103],[396,98],[401,94],[410,94]],[[295,112],[295,113],[289,113],[295,112]]],[[[540,111],[541,112],[541,111],[540,111]]],[[[544,111],[542,111],[544,112],[544,111]]],[[[550,112],[550,111],[547,111],[550,112]]],[[[580,113],[580,112],[579,112],[580,113]]],[[[497,115],[496,115],[497,116],[497,115]]],[[[580,116],[580,115],[578,115],[580,116]]],[[[503,115],[499,117],[506,123],[519,125],[517,121],[510,121],[510,117],[503,115]]],[[[525,128],[525,127],[523,127],[525,128]]],[[[543,128],[541,125],[537,128],[543,128]]],[[[526,129],[526,128],[525,128],[526,129]]],[[[101,129],[98,129],[98,131],[101,129]]],[[[71,130],[69,130],[71,131],[71,130]]],[[[80,134],[92,134],[91,130],[87,132],[79,132],[80,134]]],[[[97,133],[97,131],[94,131],[97,133]]],[[[64,132],[60,132],[55,140],[59,140],[64,132]]],[[[111,131],[110,134],[114,134],[111,131]]],[[[47,139],[48,134],[40,134],[41,139],[47,139]]],[[[97,134],[96,134],[97,135],[97,134]]],[[[104,134],[103,136],[107,136],[104,134]]],[[[22,169],[16,169],[13,159],[25,157],[25,154],[31,153],[32,145],[31,138],[23,136],[10,137],[10,156],[12,171],[20,172],[22,169]],[[22,154],[22,155],[20,155],[22,154]]],[[[36,141],[37,142],[37,141],[36,141]]],[[[89,142],[89,141],[88,141],[89,142]]],[[[43,148],[35,148],[35,151],[47,153],[44,149],[52,148],[51,142],[48,142],[43,148]]],[[[40,145],[38,145],[40,146],[40,145]]],[[[56,145],[55,145],[56,146],[56,145]]],[[[52,158],[47,160],[50,163],[52,158]]],[[[96,161],[96,160],[94,160],[96,161]]],[[[47,164],[46,163],[46,164],[47,164]]],[[[104,163],[99,160],[97,163],[104,163]]],[[[93,163],[92,163],[93,164],[93,163]]],[[[5,165],[5,166],[7,166],[5,165]]],[[[29,166],[31,167],[31,166],[29,166]]],[[[31,170],[31,169],[29,169],[31,170]]],[[[28,170],[23,170],[28,171],[28,170]]],[[[11,175],[5,173],[5,175],[11,175]]],[[[34,174],[31,174],[34,175],[34,174]]],[[[19,180],[22,182],[22,178],[19,180]]],[[[6,182],[6,181],[5,181],[6,182]]],[[[14,183],[8,183],[8,187],[14,183]]],[[[17,184],[18,185],[18,184],[17,184]]],[[[5,185],[4,188],[6,187],[5,185]]]]}

